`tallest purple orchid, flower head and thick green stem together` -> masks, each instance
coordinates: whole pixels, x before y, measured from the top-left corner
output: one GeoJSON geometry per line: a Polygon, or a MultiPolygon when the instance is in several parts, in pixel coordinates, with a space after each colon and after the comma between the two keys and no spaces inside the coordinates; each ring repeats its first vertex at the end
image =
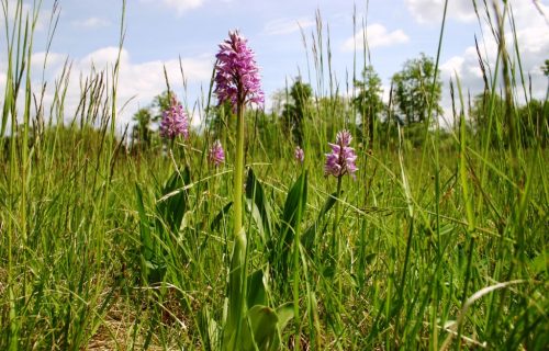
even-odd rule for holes
{"type": "MultiPolygon", "coordinates": [[[[215,90],[220,105],[231,102],[236,107],[236,155],[234,168],[233,210],[234,210],[234,247],[228,276],[228,314],[224,329],[224,347],[238,350],[240,335],[246,317],[247,283],[247,240],[243,227],[243,186],[244,186],[244,109],[247,103],[262,106],[265,103],[261,90],[259,68],[254,52],[238,31],[228,33],[228,39],[220,45],[215,56],[215,90]]],[[[244,326],[243,326],[244,325],[244,326]]]]}

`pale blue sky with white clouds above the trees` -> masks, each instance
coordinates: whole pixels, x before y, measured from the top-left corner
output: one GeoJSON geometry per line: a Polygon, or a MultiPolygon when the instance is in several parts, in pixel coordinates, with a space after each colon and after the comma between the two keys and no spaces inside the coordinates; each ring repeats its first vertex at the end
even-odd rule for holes
{"type": "MultiPolygon", "coordinates": [[[[13,7],[15,0],[7,0],[13,7]]],[[[29,2],[26,9],[32,8],[29,2]]],[[[479,64],[474,50],[474,35],[481,41],[483,58],[490,65],[495,60],[496,45],[483,21],[477,20],[471,0],[450,0],[445,29],[440,68],[442,80],[448,82],[455,73],[473,93],[482,89],[479,64]],[[483,36],[484,35],[484,36],[483,36]]],[[[482,1],[479,1],[482,2],[482,1]]],[[[35,38],[33,69],[42,77],[45,37],[54,1],[43,0],[35,38]]],[[[272,93],[282,89],[288,80],[301,71],[309,81],[307,50],[300,26],[309,46],[309,64],[313,75],[311,84],[316,87],[311,54],[312,33],[315,32],[315,13],[320,11],[325,42],[329,26],[333,71],[341,94],[354,71],[354,36],[358,43],[357,69],[363,65],[360,43],[362,23],[368,25],[371,64],[383,80],[386,90],[391,76],[402,68],[406,59],[419,53],[436,56],[441,0],[127,0],[126,35],[121,61],[119,106],[130,100],[121,113],[123,123],[131,121],[138,106],[147,105],[165,90],[163,67],[166,66],[171,87],[180,98],[187,97],[189,109],[208,90],[217,44],[232,29],[239,29],[256,52],[261,67],[267,107],[272,93]],[[352,16],[356,13],[357,25],[352,16]],[[299,23],[299,25],[298,25],[299,23]],[[188,82],[183,91],[179,58],[188,82]]],[[[539,66],[549,58],[548,1],[511,1],[523,69],[533,77],[534,94],[545,95],[547,79],[539,66]],[[537,7],[535,5],[537,3],[537,7]],[[539,10],[544,12],[540,14],[539,10]]],[[[55,80],[68,57],[72,63],[72,77],[67,97],[67,110],[78,101],[79,71],[89,72],[90,66],[110,67],[117,54],[122,1],[117,0],[60,0],[59,22],[47,60],[45,77],[55,80]]],[[[480,4],[482,5],[482,4],[480,4]]],[[[5,78],[4,35],[0,41],[0,83],[5,78]]],[[[325,43],[326,44],[326,43],[325,43]]],[[[34,84],[38,84],[35,81],[34,84]]],[[[327,86],[327,84],[326,84],[327,86]]],[[[53,83],[49,84],[53,87],[53,83]]],[[[52,89],[46,101],[52,99],[52,89]]],[[[325,94],[324,92],[318,92],[325,94]]],[[[448,98],[442,102],[449,104],[448,98]]],[[[193,113],[197,122],[200,113],[193,113]]]]}

